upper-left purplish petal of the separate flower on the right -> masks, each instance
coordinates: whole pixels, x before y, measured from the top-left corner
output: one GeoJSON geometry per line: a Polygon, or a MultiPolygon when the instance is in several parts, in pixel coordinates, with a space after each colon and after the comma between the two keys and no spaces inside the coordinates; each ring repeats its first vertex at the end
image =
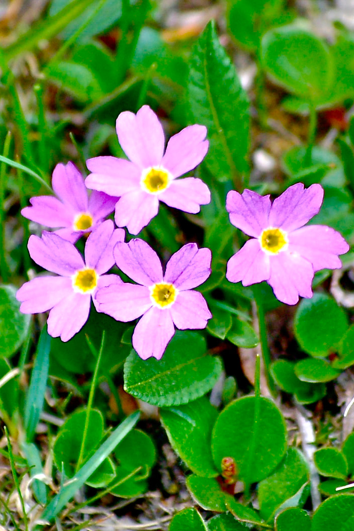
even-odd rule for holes
{"type": "Polygon", "coordinates": [[[269,226],[268,216],[271,209],[269,195],[260,195],[252,190],[244,190],[242,195],[231,190],[226,196],[226,210],[230,222],[248,236],[257,238],[263,229],[269,226]]]}

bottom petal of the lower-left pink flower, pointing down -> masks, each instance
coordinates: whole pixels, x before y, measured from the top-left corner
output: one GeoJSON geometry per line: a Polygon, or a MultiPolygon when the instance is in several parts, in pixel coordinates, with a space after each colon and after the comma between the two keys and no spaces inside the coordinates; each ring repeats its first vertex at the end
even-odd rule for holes
{"type": "Polygon", "coordinates": [[[59,337],[68,341],[79,332],[88,320],[91,305],[89,293],[72,293],[62,299],[49,312],[48,333],[52,337],[59,337]]]}

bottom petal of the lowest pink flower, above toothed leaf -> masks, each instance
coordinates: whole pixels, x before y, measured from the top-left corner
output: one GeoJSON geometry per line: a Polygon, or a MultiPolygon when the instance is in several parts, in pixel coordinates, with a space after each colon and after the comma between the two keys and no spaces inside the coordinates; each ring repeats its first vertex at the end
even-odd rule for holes
{"type": "Polygon", "coordinates": [[[161,359],[175,327],[168,310],[152,307],[146,312],[133,333],[133,347],[142,359],[161,359]]]}

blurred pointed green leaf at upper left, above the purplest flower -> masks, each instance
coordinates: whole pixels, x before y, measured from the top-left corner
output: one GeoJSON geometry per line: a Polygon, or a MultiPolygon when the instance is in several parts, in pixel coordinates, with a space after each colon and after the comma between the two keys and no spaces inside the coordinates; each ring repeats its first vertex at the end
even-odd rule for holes
{"type": "Polygon", "coordinates": [[[103,95],[98,80],[85,65],[73,61],[50,63],[46,75],[50,81],[85,104],[103,95]]]}

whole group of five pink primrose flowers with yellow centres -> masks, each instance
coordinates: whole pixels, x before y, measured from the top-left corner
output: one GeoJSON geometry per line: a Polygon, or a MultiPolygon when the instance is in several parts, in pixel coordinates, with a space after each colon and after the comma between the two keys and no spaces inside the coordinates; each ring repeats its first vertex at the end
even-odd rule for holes
{"type": "MultiPolygon", "coordinates": [[[[98,312],[117,321],[141,318],[133,347],[143,359],[160,359],[175,327],[203,329],[212,317],[204,297],[193,290],[211,273],[211,252],[186,244],[171,256],[163,273],[146,242],[124,242],[122,227],[137,235],[158,214],[159,201],[189,213],[210,202],[201,179],[179,178],[205,157],[206,127],[186,127],[170,138],[165,151],[158,117],[144,105],[136,115],[121,113],[116,129],[129,160],[89,159],[91,173],[85,181],[71,162],[58,164],[52,179],[56,196],[32,198],[31,206],[22,210],[24,217],[57,229],[44,231],[41,238],[32,235],[28,242],[34,262],[56,276],[32,279],[16,296],[23,313],[49,311],[48,332],[63,341],[83,327],[91,299],[98,312]],[[114,210],[119,228],[105,220],[114,210]],[[81,236],[87,236],[84,258],[74,245],[81,236]],[[114,264],[135,284],[107,274],[114,264]]],[[[308,189],[303,184],[290,186],[273,204],[269,195],[251,190],[229,192],[230,221],[251,239],[228,261],[227,279],[244,286],[265,280],[287,304],[296,304],[299,295],[311,297],[314,273],[340,268],[338,255],[349,249],[330,227],[304,227],[322,200],[318,184],[308,189]]]]}

